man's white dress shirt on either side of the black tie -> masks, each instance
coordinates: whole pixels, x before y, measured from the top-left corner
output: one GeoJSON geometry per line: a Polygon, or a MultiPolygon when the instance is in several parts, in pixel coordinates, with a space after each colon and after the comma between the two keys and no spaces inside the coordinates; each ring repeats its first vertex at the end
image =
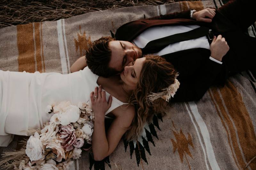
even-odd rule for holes
{"type": "MultiPolygon", "coordinates": [[[[167,37],[170,35],[188,32],[193,29],[200,27],[199,25],[174,25],[174,26],[157,26],[148,28],[144,32],[142,32],[138,37],[136,37],[132,43],[140,48],[144,48],[148,42],[160,39],[163,37],[167,37]]],[[[210,50],[210,45],[206,36],[190,39],[187,41],[181,41],[174,44],[170,44],[169,46],[164,47],[164,49],[160,50],[154,55],[164,55],[169,53],[174,53],[181,50],[187,50],[191,48],[206,48],[210,50]]],[[[217,63],[222,64],[222,62],[212,58],[210,56],[210,60],[213,60],[217,63]]]]}

